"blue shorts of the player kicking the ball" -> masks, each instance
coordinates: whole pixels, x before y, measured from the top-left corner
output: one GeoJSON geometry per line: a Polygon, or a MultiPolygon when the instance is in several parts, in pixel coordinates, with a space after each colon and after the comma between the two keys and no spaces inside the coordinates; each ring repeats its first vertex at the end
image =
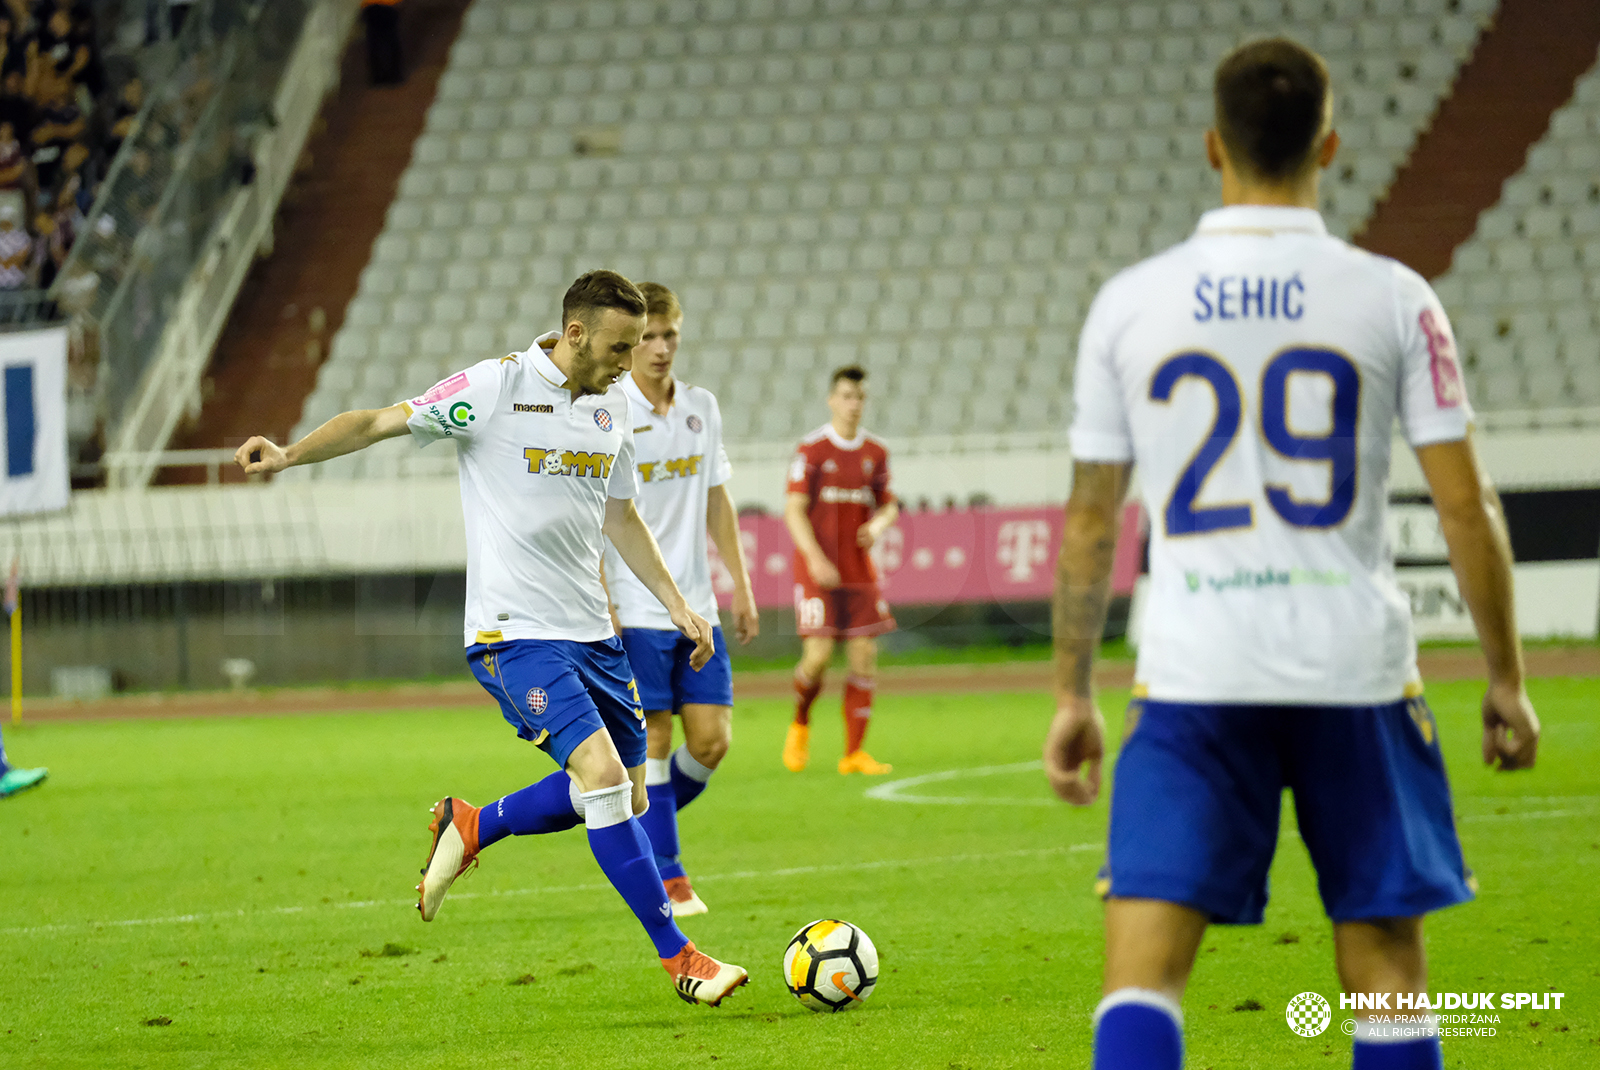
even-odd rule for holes
{"type": "Polygon", "coordinates": [[[616,637],[474,643],[467,664],[517,734],[563,769],[578,744],[598,731],[611,734],[624,766],[645,763],[645,710],[616,637]]]}

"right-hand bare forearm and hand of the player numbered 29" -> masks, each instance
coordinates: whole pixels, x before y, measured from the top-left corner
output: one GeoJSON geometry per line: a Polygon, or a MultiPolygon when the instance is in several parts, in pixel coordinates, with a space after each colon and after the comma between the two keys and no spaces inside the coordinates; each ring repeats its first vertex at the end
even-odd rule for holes
{"type": "Polygon", "coordinates": [[[1418,446],[1456,585],[1488,661],[1483,763],[1528,769],[1539,752],[1539,717],[1523,689],[1522,637],[1510,573],[1510,536],[1499,494],[1483,475],[1472,438],[1418,446]]]}

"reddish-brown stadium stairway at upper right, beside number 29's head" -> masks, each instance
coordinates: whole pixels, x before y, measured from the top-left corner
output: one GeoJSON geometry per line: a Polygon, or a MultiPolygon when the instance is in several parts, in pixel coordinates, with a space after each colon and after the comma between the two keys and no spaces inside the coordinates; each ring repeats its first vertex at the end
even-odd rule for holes
{"type": "Polygon", "coordinates": [[[1478,214],[1595,62],[1595,0],[1501,0],[1494,21],[1355,243],[1427,278],[1450,267],[1478,214]]]}

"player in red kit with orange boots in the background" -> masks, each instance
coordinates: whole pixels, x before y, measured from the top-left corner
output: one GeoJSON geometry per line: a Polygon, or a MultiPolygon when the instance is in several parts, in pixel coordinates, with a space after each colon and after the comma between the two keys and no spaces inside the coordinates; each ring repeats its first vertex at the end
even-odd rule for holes
{"type": "Polygon", "coordinates": [[[835,640],[845,640],[845,757],[840,773],[888,773],[861,749],[872,718],[878,640],[894,617],[878,593],[878,571],[867,550],[888,531],[899,505],[890,493],[890,453],[861,430],[867,373],[851,365],[834,373],[827,408],[834,417],[806,435],[789,467],[784,523],[795,544],[795,720],[784,741],[784,765],[798,773],[811,757],[811,704],[835,640]]]}

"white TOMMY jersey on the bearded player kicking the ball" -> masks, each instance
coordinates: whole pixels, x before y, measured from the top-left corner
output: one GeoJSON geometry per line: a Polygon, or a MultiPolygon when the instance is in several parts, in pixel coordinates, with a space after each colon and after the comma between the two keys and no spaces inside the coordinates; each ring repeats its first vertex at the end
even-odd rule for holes
{"type": "Polygon", "coordinates": [[[403,401],[418,446],[453,440],[467,523],[466,641],[613,635],[600,587],[608,497],[634,497],[634,427],[613,385],[576,401],[541,336],[403,401]]]}

